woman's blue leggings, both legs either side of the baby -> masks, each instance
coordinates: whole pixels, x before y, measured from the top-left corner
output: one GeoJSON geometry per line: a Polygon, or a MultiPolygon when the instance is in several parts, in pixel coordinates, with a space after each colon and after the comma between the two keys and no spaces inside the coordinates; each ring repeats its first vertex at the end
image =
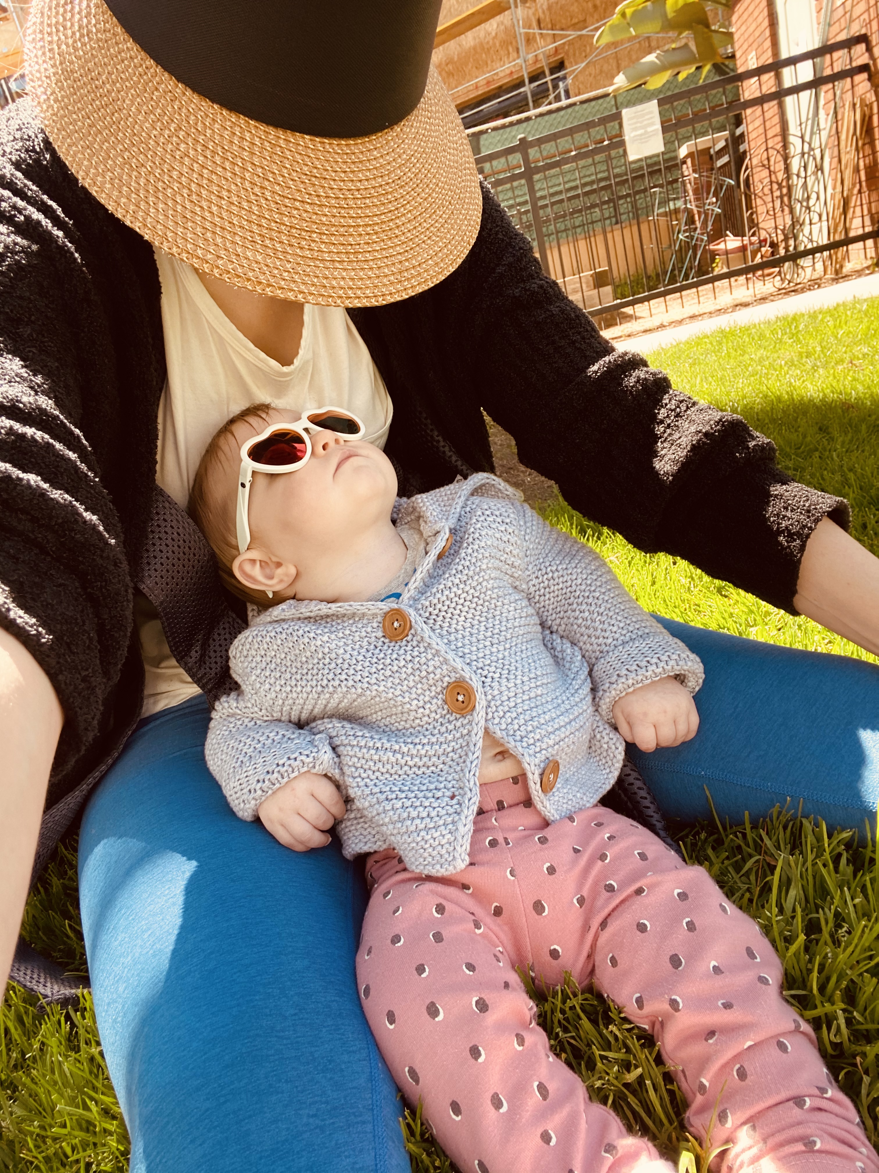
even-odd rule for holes
{"type": "MultiPolygon", "coordinates": [[[[635,754],[691,819],[790,796],[874,821],[879,669],[667,623],[703,659],[701,730],[635,754]]],[[[360,1009],[361,869],[240,822],[207,773],[199,697],[142,721],[91,799],[80,900],[131,1173],[404,1173],[396,1090],[360,1009]]]]}

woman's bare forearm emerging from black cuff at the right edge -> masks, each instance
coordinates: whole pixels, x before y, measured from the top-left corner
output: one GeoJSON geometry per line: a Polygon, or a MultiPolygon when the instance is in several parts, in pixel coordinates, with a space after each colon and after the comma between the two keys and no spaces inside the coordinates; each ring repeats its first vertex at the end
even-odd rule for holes
{"type": "Polygon", "coordinates": [[[879,656],[879,558],[827,517],[806,542],[793,605],[879,656]]]}

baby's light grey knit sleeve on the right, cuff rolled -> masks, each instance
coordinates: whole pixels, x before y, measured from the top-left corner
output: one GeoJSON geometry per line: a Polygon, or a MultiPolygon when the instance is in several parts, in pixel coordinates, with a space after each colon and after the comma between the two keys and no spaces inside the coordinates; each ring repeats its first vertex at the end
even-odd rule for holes
{"type": "Polygon", "coordinates": [[[592,547],[519,508],[527,597],[543,629],[581,652],[599,716],[613,725],[620,697],[667,676],[696,692],[700,658],[638,605],[592,547]]]}

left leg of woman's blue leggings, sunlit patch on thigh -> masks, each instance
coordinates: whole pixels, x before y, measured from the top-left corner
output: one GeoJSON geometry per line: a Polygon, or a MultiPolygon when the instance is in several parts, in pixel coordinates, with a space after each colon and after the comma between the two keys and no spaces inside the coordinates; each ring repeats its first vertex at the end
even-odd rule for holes
{"type": "Polygon", "coordinates": [[[241,822],[207,703],[141,721],[88,805],[80,906],[131,1173],[408,1173],[360,1009],[366,887],[241,822]]]}

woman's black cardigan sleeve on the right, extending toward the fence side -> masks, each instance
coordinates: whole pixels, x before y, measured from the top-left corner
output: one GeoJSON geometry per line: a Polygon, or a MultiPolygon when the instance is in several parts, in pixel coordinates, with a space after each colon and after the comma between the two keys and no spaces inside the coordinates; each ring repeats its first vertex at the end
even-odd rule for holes
{"type": "Polygon", "coordinates": [[[805,543],[822,517],[847,526],[845,501],[795,482],[740,416],[614,350],[488,189],[477,242],[447,284],[461,362],[524,465],[640,549],[793,610],[805,543]]]}

